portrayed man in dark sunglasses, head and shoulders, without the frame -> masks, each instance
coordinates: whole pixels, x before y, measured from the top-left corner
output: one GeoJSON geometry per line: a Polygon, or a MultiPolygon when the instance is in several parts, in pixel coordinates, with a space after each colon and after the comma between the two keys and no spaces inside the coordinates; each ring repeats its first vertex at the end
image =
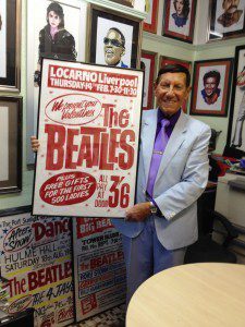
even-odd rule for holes
{"type": "Polygon", "coordinates": [[[119,28],[111,27],[103,38],[105,61],[111,66],[127,68],[122,61],[125,55],[125,37],[119,28]]]}

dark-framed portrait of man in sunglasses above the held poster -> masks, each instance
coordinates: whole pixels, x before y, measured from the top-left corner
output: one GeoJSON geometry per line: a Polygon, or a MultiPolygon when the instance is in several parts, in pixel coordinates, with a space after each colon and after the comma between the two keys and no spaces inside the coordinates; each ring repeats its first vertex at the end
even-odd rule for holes
{"type": "Polygon", "coordinates": [[[142,25],[139,19],[90,4],[87,61],[110,66],[139,68],[142,25]],[[111,39],[115,39],[117,45],[112,45],[111,39]]]}

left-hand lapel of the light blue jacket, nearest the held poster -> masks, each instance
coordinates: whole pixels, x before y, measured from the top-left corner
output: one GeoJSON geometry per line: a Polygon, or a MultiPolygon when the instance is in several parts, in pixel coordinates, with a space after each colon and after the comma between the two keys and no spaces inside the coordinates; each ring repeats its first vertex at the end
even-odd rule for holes
{"type": "Polygon", "coordinates": [[[147,116],[143,121],[142,128],[142,149],[143,149],[143,165],[145,170],[146,183],[148,181],[150,160],[154,150],[155,136],[157,130],[158,110],[152,110],[150,116],[147,116]],[[155,133],[152,133],[155,131],[155,133]]]}

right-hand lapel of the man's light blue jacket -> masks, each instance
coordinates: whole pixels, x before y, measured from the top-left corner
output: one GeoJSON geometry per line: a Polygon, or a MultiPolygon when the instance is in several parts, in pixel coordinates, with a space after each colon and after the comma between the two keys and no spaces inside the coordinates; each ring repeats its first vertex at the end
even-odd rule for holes
{"type": "Polygon", "coordinates": [[[185,132],[187,129],[186,128],[187,120],[188,120],[187,117],[183,112],[181,112],[181,116],[180,116],[180,118],[173,129],[173,132],[169,138],[169,142],[167,144],[155,184],[157,183],[158,179],[162,175],[164,169],[168,167],[168,165],[170,164],[173,156],[176,154],[181,144],[184,142],[185,132]]]}

